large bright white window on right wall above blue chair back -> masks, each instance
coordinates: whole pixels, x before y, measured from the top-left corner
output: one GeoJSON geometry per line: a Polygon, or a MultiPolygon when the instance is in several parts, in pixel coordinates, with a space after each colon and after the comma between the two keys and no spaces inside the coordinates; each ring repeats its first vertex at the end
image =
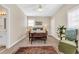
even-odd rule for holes
{"type": "Polygon", "coordinates": [[[68,28],[79,29],[79,8],[68,13],[68,28]]]}

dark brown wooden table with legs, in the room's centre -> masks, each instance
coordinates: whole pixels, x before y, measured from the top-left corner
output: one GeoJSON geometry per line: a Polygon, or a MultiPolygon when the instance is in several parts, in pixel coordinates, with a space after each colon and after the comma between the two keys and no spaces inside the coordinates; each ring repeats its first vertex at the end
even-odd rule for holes
{"type": "Polygon", "coordinates": [[[32,44],[32,41],[33,40],[43,40],[44,43],[46,43],[46,40],[47,40],[47,31],[45,33],[35,33],[35,32],[29,32],[29,41],[31,41],[31,44],[32,44]]]}

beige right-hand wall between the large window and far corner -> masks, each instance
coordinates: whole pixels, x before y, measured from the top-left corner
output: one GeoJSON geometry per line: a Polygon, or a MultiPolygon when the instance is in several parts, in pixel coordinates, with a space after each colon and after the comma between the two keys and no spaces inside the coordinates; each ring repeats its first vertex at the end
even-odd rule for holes
{"type": "MultiPolygon", "coordinates": [[[[73,4],[67,4],[67,5],[63,5],[59,10],[58,10],[58,12],[54,15],[54,16],[52,16],[52,18],[51,18],[51,20],[55,20],[54,22],[55,22],[55,33],[54,34],[56,34],[55,35],[55,37],[57,38],[57,39],[59,39],[58,38],[58,36],[57,36],[57,27],[59,26],[59,25],[65,25],[66,27],[67,27],[67,13],[68,13],[68,11],[70,11],[71,9],[73,9],[74,7],[76,7],[76,6],[78,6],[78,5],[73,5],[73,4]],[[53,18],[55,18],[55,19],[53,19],[53,18]]],[[[51,27],[52,27],[52,24],[51,24],[51,27]]],[[[53,29],[51,29],[51,31],[52,31],[53,29]]],[[[52,32],[51,32],[52,33],[52,32]]],[[[52,34],[53,35],[53,34],[52,34]]]]}

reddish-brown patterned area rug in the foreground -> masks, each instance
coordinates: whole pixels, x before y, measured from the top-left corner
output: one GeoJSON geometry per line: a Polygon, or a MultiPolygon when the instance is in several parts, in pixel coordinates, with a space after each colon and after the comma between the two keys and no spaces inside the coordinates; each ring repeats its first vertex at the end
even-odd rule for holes
{"type": "Polygon", "coordinates": [[[15,54],[57,54],[52,46],[21,47],[15,54]]]}

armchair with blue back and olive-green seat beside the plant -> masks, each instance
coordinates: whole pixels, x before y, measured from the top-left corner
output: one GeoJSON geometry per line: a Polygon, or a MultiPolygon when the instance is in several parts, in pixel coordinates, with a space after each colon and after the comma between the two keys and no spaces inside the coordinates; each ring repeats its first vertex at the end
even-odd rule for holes
{"type": "Polygon", "coordinates": [[[75,54],[77,52],[77,30],[67,29],[65,33],[65,39],[60,40],[58,49],[64,54],[75,54]]]}

